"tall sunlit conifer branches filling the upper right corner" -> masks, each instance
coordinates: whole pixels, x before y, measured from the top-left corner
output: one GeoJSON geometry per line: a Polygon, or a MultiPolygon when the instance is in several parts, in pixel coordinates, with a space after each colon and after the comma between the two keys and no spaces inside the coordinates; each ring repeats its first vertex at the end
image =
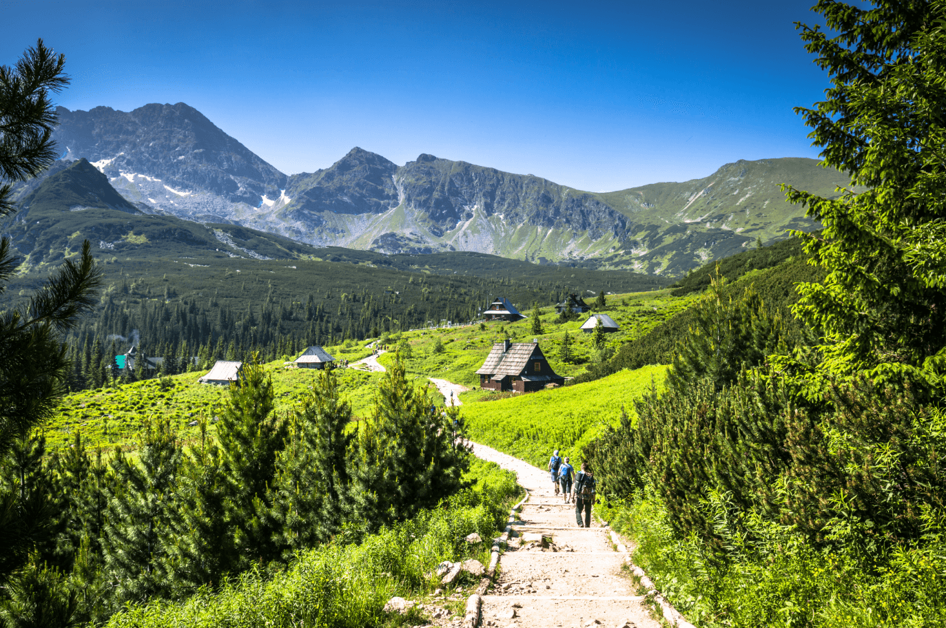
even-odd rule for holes
{"type": "Polygon", "coordinates": [[[796,111],[823,163],[868,189],[830,200],[787,186],[788,198],[825,225],[803,237],[827,275],[801,286],[797,312],[824,331],[828,371],[925,379],[924,363],[946,346],[938,148],[946,141],[946,9],[821,0],[815,10],[833,32],[803,26],[802,40],[832,86],[824,101],[796,111]]]}

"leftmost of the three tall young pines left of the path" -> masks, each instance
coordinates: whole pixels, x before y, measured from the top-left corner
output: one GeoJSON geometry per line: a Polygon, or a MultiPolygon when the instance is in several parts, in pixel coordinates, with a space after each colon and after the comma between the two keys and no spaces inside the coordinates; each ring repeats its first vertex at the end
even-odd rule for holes
{"type": "Polygon", "coordinates": [[[224,474],[227,519],[236,537],[242,567],[279,557],[272,516],[276,456],[288,433],[274,415],[272,379],[255,358],[231,386],[217,424],[224,474]]]}

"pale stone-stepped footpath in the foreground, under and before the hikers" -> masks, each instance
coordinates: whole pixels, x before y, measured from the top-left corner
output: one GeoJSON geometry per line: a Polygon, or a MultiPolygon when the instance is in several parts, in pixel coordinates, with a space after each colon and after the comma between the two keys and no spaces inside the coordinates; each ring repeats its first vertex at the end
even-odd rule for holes
{"type": "Polygon", "coordinates": [[[481,626],[659,628],[623,575],[625,557],[612,549],[609,528],[597,522],[578,528],[574,506],[555,496],[549,472],[472,445],[477,457],[515,471],[519,484],[531,493],[499,561],[497,584],[482,597],[481,626]],[[522,534],[528,532],[552,536],[552,548],[523,544],[522,534]]]}

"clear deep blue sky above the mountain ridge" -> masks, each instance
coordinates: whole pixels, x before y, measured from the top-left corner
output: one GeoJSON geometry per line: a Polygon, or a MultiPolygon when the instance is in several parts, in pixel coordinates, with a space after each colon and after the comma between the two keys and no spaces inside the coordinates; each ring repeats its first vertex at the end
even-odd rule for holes
{"type": "Polygon", "coordinates": [[[42,37],[58,104],[183,101],[287,174],[359,146],[603,191],[816,157],[812,4],[0,0],[0,63],[42,37]]]}

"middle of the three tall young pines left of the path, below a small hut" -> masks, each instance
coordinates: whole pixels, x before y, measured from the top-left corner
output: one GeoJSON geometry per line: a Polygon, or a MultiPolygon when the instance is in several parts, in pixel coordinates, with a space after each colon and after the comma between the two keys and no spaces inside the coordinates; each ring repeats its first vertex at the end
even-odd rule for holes
{"type": "Polygon", "coordinates": [[[354,433],[345,434],[351,405],[338,378],[316,375],[305,405],[296,412],[289,445],[279,458],[276,511],[285,557],[324,543],[342,526],[348,508],[348,459],[354,433]]]}

